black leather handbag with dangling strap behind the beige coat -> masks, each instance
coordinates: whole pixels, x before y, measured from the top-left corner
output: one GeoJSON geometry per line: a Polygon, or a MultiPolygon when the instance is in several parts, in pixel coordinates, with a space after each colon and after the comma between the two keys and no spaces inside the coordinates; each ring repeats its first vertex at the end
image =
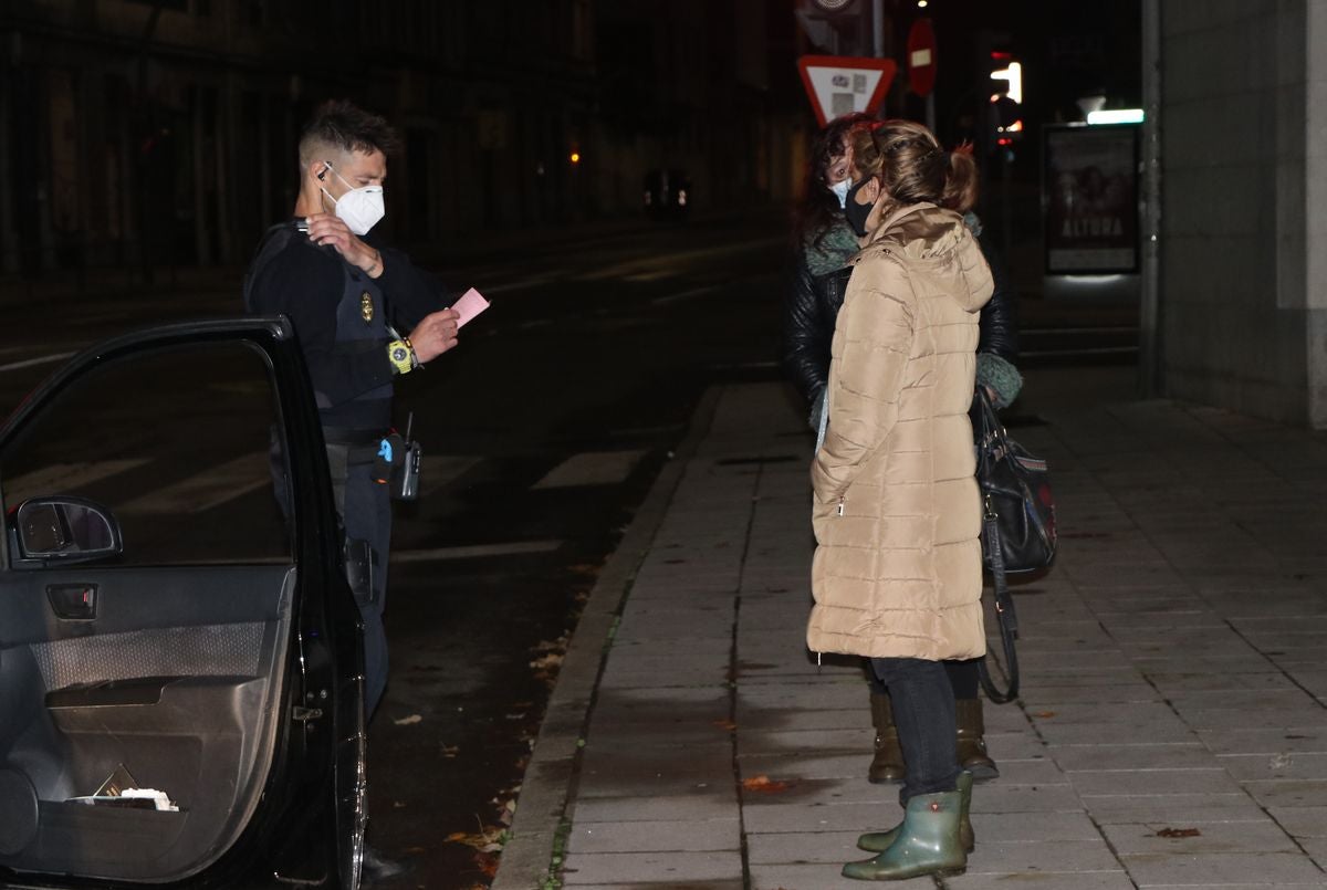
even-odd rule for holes
{"type": "Polygon", "coordinates": [[[1046,462],[1009,438],[986,391],[977,387],[974,434],[977,484],[982,492],[982,560],[994,584],[995,619],[1005,662],[1005,688],[990,674],[987,659],[977,668],[986,696],[1005,704],[1018,698],[1018,614],[1007,574],[1038,572],[1055,561],[1055,497],[1046,462]]]}

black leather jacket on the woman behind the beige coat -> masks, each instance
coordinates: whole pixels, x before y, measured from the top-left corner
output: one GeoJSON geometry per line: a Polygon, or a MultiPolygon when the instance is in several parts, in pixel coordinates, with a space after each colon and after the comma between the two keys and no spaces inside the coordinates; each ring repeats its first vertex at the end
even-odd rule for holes
{"type": "MultiPolygon", "coordinates": [[[[977,351],[995,353],[1016,365],[1018,294],[990,237],[982,232],[977,243],[995,281],[995,292],[982,309],[977,351]]],[[[827,275],[811,275],[805,252],[800,251],[784,298],[783,371],[812,409],[820,403],[829,382],[829,344],[851,273],[852,267],[845,267],[827,275]]]]}

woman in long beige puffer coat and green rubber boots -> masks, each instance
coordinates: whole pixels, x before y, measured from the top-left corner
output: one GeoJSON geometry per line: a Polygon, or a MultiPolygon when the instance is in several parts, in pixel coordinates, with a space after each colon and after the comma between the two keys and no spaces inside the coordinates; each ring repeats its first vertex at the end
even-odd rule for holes
{"type": "Polygon", "coordinates": [[[962,870],[971,840],[971,776],[957,765],[941,661],[986,651],[967,409],[991,276],[962,218],[937,206],[975,175],[970,158],[909,121],[860,131],[853,157],[845,212],[865,247],[835,328],[828,427],[811,471],[807,645],[869,657],[889,687],[906,816],[864,834],[860,846],[880,856],[844,874],[901,879],[962,870]]]}

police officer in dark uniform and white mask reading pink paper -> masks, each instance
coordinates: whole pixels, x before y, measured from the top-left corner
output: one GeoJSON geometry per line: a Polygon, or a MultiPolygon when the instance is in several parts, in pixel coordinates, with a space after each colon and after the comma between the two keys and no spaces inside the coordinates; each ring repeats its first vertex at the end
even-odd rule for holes
{"type": "Polygon", "coordinates": [[[382,611],[391,505],[376,458],[391,423],[391,389],[398,377],[456,345],[456,313],[438,284],[369,235],[385,214],[386,155],[395,147],[381,117],[344,101],[318,107],[300,138],[293,219],[268,231],[244,285],[249,312],[284,314],[295,324],[348,558],[360,549],[372,565],[372,585],[356,597],[369,715],[387,683],[382,611]]]}

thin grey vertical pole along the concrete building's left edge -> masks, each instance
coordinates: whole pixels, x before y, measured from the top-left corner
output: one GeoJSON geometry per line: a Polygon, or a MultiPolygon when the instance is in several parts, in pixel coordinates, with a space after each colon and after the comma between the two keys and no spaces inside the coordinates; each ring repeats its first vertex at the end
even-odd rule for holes
{"type": "Polygon", "coordinates": [[[1161,393],[1161,0],[1143,0],[1143,231],[1139,393],[1161,393]]]}

